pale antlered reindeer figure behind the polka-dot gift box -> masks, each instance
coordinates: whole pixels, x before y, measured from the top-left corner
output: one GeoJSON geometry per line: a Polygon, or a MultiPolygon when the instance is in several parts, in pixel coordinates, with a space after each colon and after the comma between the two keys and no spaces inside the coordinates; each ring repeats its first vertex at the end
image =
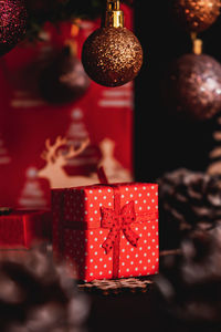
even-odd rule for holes
{"type": "Polygon", "coordinates": [[[67,145],[67,139],[65,137],[62,138],[59,136],[53,145],[51,145],[50,139],[46,139],[46,151],[44,151],[41,155],[41,157],[46,160],[46,165],[38,172],[38,176],[40,178],[49,179],[51,188],[70,188],[99,183],[95,173],[91,176],[69,176],[63,168],[69,159],[78,156],[88,146],[88,144],[90,139],[87,138],[82,142],[77,148],[74,148],[74,146],[71,145],[67,153],[64,154],[59,148],[67,145]]]}

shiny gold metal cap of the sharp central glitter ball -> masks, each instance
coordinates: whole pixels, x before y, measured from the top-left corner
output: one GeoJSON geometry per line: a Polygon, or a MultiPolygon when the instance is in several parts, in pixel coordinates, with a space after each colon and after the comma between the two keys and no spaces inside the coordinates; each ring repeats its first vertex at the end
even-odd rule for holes
{"type": "Polygon", "coordinates": [[[107,0],[103,27],[124,28],[124,12],[119,9],[119,0],[107,0]]]}

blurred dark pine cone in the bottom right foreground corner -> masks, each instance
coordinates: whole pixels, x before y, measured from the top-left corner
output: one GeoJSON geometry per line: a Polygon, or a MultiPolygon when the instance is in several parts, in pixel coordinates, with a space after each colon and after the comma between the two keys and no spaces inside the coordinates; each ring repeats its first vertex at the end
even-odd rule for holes
{"type": "Polygon", "coordinates": [[[221,326],[221,226],[193,231],[181,241],[179,255],[160,260],[156,279],[161,312],[176,331],[220,331],[221,326]],[[196,330],[198,329],[198,330],[196,330]]]}

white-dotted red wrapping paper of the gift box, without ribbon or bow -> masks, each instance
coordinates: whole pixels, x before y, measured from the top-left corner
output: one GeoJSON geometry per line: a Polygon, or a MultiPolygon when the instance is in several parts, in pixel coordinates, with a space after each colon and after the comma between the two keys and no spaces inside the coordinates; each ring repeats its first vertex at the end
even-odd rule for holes
{"type": "MultiPolygon", "coordinates": [[[[120,206],[134,200],[136,220],[130,225],[139,236],[138,246],[133,247],[120,231],[118,277],[147,276],[158,272],[158,187],[155,184],[122,184],[119,186],[120,206]]],[[[60,194],[61,195],[61,194],[60,194]]],[[[64,259],[70,267],[77,266],[78,278],[91,281],[94,279],[110,279],[113,277],[113,250],[106,255],[103,242],[109,229],[101,227],[101,207],[114,209],[114,188],[109,186],[88,186],[75,189],[64,189],[63,220],[73,221],[73,229],[59,232],[60,214],[53,198],[54,248],[57,242],[64,242],[64,259]],[[59,221],[57,221],[59,220],[59,221]],[[88,229],[74,229],[87,225],[88,229]]],[[[59,205],[59,204],[57,204],[59,205]]],[[[60,228],[61,229],[61,228],[60,228]]],[[[60,249],[59,249],[60,250],[60,249]]]]}

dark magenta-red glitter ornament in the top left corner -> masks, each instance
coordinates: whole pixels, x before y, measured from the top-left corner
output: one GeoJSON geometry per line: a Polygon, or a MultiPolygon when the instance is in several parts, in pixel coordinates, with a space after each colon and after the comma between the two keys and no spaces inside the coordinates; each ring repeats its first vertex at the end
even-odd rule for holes
{"type": "Polygon", "coordinates": [[[24,0],[0,1],[0,55],[8,53],[25,33],[24,0]]]}

